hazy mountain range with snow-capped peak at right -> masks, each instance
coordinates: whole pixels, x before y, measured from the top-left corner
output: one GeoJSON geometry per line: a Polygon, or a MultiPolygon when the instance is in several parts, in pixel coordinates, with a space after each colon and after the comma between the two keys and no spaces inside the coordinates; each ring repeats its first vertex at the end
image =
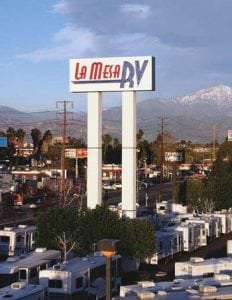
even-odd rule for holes
{"type": "MultiPolygon", "coordinates": [[[[120,139],[121,113],[121,107],[103,110],[103,133],[120,139]]],[[[184,97],[153,98],[137,103],[137,128],[144,131],[147,140],[153,141],[161,131],[161,118],[164,131],[175,140],[212,142],[215,128],[215,137],[222,142],[227,130],[232,129],[232,87],[218,85],[184,97]]],[[[69,113],[67,119],[68,135],[86,139],[87,114],[69,113]]],[[[25,113],[0,106],[0,125],[1,130],[23,128],[28,136],[32,128],[39,128],[42,132],[50,129],[53,135],[60,136],[63,133],[63,114],[61,111],[25,113]]]]}

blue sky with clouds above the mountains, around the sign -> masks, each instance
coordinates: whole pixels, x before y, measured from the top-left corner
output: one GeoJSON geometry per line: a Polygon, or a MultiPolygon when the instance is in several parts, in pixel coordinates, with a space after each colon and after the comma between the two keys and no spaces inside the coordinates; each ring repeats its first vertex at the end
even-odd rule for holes
{"type": "MultiPolygon", "coordinates": [[[[0,0],[0,105],[86,110],[70,58],[154,56],[156,91],[138,101],[232,86],[231,14],[231,0],[0,0]]],[[[120,101],[103,95],[104,108],[120,101]]]]}

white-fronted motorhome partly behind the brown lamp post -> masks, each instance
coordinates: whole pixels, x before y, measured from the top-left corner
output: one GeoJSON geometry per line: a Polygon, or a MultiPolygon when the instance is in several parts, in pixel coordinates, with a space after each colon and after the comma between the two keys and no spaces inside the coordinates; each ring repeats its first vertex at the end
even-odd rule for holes
{"type": "MultiPolygon", "coordinates": [[[[120,256],[112,257],[112,291],[120,285],[118,262],[120,256]]],[[[106,259],[100,253],[77,257],[39,273],[39,284],[48,288],[49,294],[86,293],[103,297],[105,295],[106,259]]]]}

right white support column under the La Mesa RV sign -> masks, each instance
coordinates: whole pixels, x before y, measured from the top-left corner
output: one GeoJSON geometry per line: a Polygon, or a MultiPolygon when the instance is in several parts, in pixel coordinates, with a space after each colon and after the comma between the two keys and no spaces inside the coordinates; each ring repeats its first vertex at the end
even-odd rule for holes
{"type": "Polygon", "coordinates": [[[122,92],[122,213],[136,217],[136,97],[122,92]]]}

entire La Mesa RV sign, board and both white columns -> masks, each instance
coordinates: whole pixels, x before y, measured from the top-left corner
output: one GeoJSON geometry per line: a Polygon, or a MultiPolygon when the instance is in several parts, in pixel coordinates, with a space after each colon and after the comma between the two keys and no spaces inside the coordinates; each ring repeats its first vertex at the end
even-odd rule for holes
{"type": "Polygon", "coordinates": [[[155,90],[152,56],[71,59],[70,91],[88,93],[87,206],[102,202],[102,92],[122,92],[122,210],[136,217],[136,91],[155,90]]]}

